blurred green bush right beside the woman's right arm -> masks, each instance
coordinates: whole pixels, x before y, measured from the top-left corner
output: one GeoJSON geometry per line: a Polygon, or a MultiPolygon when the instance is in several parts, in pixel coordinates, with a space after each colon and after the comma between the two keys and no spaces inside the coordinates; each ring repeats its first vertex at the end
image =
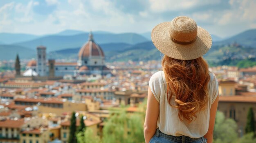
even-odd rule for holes
{"type": "Polygon", "coordinates": [[[213,131],[213,143],[236,142],[238,139],[236,130],[236,122],[233,119],[225,119],[224,114],[220,111],[217,111],[213,131]]]}

